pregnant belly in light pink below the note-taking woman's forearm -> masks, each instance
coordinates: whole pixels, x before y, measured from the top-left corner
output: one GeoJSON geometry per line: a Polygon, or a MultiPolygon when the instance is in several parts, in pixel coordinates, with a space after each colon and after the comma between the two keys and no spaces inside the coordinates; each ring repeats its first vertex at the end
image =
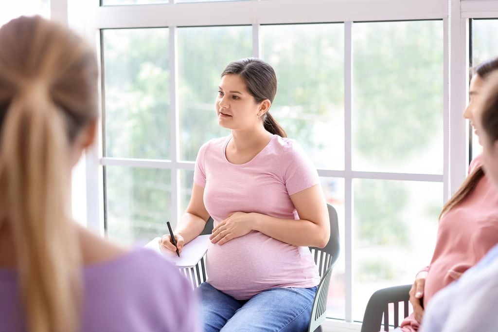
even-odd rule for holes
{"type": "Polygon", "coordinates": [[[311,284],[312,276],[306,276],[305,270],[313,271],[313,258],[306,252],[304,259],[302,255],[299,247],[252,231],[221,246],[209,245],[208,282],[237,299],[250,298],[271,287],[311,284]]]}

